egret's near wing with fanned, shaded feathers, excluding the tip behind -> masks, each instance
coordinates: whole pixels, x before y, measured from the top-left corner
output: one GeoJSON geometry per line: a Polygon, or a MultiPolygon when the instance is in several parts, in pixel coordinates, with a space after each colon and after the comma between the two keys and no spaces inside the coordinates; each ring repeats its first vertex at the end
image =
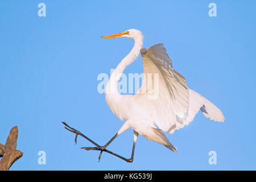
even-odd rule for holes
{"type": "Polygon", "coordinates": [[[173,132],[175,127],[183,125],[187,119],[189,106],[187,82],[172,67],[172,61],[163,44],[156,44],[149,49],[143,48],[141,55],[144,77],[138,94],[146,92],[148,95],[156,96],[150,101],[154,104],[154,122],[161,130],[173,132]]]}

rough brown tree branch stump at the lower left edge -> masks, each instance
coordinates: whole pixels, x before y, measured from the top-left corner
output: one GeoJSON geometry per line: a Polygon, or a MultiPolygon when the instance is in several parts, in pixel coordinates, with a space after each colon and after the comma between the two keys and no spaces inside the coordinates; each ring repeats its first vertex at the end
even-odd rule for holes
{"type": "Polygon", "coordinates": [[[18,127],[11,129],[5,145],[0,143],[0,171],[8,171],[13,163],[22,157],[23,153],[16,150],[18,138],[18,127]]]}

